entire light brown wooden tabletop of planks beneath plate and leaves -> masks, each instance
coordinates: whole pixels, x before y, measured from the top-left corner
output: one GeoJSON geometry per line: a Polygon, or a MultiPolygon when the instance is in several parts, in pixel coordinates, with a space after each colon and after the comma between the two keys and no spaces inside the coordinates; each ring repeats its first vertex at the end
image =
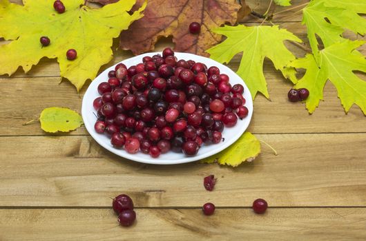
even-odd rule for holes
{"type": "MultiPolygon", "coordinates": [[[[269,1],[247,2],[264,12],[269,1]]],[[[307,42],[300,21],[289,12],[273,20],[307,42]]],[[[102,70],[132,55],[115,56],[102,70]]],[[[238,61],[229,66],[236,70],[238,61]]],[[[278,156],[262,146],[255,161],[236,168],[134,163],[97,145],[84,127],[46,134],[37,122],[23,123],[46,107],[80,112],[88,85],[77,94],[68,81],[59,83],[59,67],[49,59],[28,74],[0,76],[0,240],[366,240],[365,116],[356,106],[346,115],[329,83],[325,101],[309,115],[287,101],[291,85],[269,61],[264,73],[271,101],[257,96],[249,131],[278,156]],[[218,177],[211,192],[202,185],[209,174],[218,177]],[[134,200],[133,227],[119,227],[110,207],[119,193],[134,200]],[[256,198],[269,203],[264,215],[250,208],[256,198]],[[205,202],[216,205],[213,216],[202,215],[205,202]]]]}

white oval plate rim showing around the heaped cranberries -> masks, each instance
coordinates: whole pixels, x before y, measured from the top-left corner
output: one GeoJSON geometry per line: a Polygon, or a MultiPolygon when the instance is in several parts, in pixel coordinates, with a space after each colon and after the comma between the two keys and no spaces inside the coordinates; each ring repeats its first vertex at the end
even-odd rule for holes
{"type": "MultiPolygon", "coordinates": [[[[127,67],[130,67],[131,65],[137,65],[137,63],[141,63],[144,56],[153,56],[154,54],[162,53],[153,52],[141,54],[131,59],[126,59],[121,63],[124,63],[127,67]]],[[[99,76],[97,76],[97,78],[95,78],[95,80],[90,83],[88,90],[86,90],[86,93],[84,95],[83,104],[81,107],[81,114],[83,116],[85,127],[88,130],[89,134],[97,141],[97,143],[99,143],[99,145],[102,145],[102,147],[108,149],[108,151],[111,151],[118,156],[122,156],[123,158],[127,158],[129,160],[135,160],[139,163],[171,165],[178,163],[190,163],[195,160],[200,160],[202,158],[212,156],[213,154],[216,154],[219,151],[222,151],[223,149],[229,147],[229,145],[233,144],[235,140],[238,140],[238,138],[245,132],[253,114],[253,102],[247,85],[245,85],[245,83],[238,76],[238,74],[235,74],[235,72],[230,70],[229,67],[226,67],[216,61],[213,61],[212,59],[208,59],[202,56],[180,52],[176,52],[175,56],[177,56],[178,60],[192,59],[193,61],[206,64],[207,67],[215,65],[220,69],[221,73],[227,74],[230,77],[231,85],[235,85],[236,83],[242,84],[244,86],[244,98],[247,101],[245,106],[249,109],[248,116],[243,120],[238,119],[238,123],[234,127],[224,128],[224,131],[222,132],[222,137],[224,138],[223,142],[213,145],[202,145],[196,156],[185,156],[184,154],[178,154],[173,151],[162,154],[159,156],[159,158],[151,158],[151,156],[149,156],[148,154],[144,154],[141,151],[139,151],[137,154],[128,154],[127,151],[125,151],[124,149],[115,149],[112,145],[110,145],[110,139],[108,138],[108,136],[106,136],[106,134],[98,134],[94,130],[94,124],[97,118],[95,117],[96,111],[93,107],[93,101],[99,96],[97,87],[99,83],[108,80],[108,72],[115,69],[115,65],[113,65],[107,70],[104,70],[102,74],[99,74],[99,76]]]]}

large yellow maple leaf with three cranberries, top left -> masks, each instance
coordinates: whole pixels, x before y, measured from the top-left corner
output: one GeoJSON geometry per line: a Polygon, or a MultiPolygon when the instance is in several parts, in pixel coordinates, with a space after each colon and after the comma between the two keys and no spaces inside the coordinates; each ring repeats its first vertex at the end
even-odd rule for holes
{"type": "Polygon", "coordinates": [[[19,66],[28,72],[46,56],[57,58],[61,76],[79,91],[87,79],[93,80],[99,67],[113,56],[113,38],[135,20],[141,18],[146,3],[128,14],[136,0],[124,0],[93,9],[83,0],[63,0],[66,12],[59,14],[53,0],[23,1],[24,6],[0,1],[0,37],[12,40],[0,45],[0,74],[13,74],[19,66]],[[50,45],[43,47],[41,36],[48,36],[50,45]],[[77,50],[77,59],[68,61],[66,52],[77,50]]]}

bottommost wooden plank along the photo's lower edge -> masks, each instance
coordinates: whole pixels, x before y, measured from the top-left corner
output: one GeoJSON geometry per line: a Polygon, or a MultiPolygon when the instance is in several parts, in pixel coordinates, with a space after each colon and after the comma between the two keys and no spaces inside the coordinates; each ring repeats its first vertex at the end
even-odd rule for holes
{"type": "Polygon", "coordinates": [[[136,209],[119,227],[110,209],[0,209],[0,239],[10,240],[365,240],[365,208],[136,209]],[[294,238],[296,237],[296,238],[294,238]]]}

